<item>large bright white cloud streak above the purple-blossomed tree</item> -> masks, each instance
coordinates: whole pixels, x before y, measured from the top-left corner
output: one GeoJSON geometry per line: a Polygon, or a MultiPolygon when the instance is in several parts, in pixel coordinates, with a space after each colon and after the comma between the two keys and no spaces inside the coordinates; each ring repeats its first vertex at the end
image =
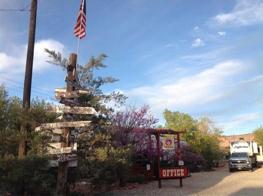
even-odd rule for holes
{"type": "Polygon", "coordinates": [[[223,92],[228,88],[226,81],[243,73],[245,68],[239,61],[227,61],[170,84],[144,86],[125,94],[131,98],[142,98],[155,111],[163,108],[201,106],[222,98],[223,92]]]}

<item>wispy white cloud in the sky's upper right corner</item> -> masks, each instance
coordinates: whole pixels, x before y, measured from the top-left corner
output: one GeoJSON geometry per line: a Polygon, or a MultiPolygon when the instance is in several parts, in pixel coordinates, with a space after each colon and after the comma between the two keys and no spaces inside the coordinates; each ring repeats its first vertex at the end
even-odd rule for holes
{"type": "Polygon", "coordinates": [[[237,3],[230,13],[218,14],[208,24],[244,26],[263,22],[263,1],[262,0],[237,0],[237,3]]]}

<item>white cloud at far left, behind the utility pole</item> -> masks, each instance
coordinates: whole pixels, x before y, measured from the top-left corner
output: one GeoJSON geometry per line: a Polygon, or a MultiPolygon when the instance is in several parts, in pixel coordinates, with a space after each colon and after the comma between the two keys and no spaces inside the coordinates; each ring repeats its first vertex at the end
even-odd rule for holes
{"type": "MultiPolygon", "coordinates": [[[[34,46],[34,60],[33,71],[42,72],[49,66],[48,54],[44,52],[44,48],[63,52],[64,46],[53,39],[39,40],[34,46]]],[[[13,54],[0,53],[0,72],[3,75],[20,74],[25,72],[26,58],[27,58],[27,45],[16,46],[13,54]],[[8,69],[6,69],[8,67],[8,69]]]]}

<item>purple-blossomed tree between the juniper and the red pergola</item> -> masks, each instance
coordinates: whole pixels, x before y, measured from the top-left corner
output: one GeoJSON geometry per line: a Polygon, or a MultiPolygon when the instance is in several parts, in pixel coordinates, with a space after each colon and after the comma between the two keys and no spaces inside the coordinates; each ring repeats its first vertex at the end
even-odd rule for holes
{"type": "MultiPolygon", "coordinates": [[[[136,128],[149,128],[158,122],[154,117],[148,117],[148,105],[137,109],[135,106],[126,106],[118,110],[111,117],[111,124],[116,129],[114,140],[119,147],[130,147],[132,158],[148,148],[148,134],[138,131],[136,128]]],[[[122,165],[119,170],[120,186],[125,186],[128,165],[122,165]]]]}

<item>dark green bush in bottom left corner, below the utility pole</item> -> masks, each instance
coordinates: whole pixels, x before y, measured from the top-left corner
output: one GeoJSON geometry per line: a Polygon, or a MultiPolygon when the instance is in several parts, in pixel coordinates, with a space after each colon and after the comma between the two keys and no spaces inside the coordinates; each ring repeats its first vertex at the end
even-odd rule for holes
{"type": "Polygon", "coordinates": [[[18,158],[6,154],[0,159],[0,195],[50,195],[55,188],[55,176],[47,164],[46,156],[18,158]]]}

